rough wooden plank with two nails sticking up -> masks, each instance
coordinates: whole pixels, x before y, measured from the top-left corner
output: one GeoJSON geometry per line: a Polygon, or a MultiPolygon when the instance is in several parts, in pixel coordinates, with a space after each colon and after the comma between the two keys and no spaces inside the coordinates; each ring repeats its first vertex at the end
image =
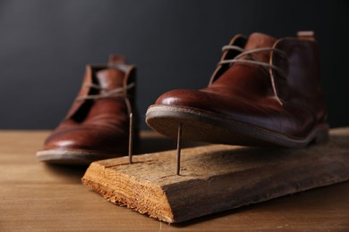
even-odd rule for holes
{"type": "Polygon", "coordinates": [[[205,145],[90,164],[82,182],[112,203],[169,223],[349,179],[349,128],[304,149],[205,145]]]}

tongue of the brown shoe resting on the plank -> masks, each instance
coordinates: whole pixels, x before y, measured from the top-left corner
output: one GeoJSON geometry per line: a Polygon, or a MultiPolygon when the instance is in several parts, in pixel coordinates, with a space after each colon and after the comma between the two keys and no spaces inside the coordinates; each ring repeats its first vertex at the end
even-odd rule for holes
{"type": "MultiPolygon", "coordinates": [[[[275,37],[270,37],[262,33],[253,33],[247,40],[246,46],[244,47],[245,51],[250,51],[256,48],[261,47],[273,47],[277,39],[275,37]]],[[[253,54],[254,57],[257,57],[260,62],[268,62],[270,52],[260,52],[253,54]]]]}

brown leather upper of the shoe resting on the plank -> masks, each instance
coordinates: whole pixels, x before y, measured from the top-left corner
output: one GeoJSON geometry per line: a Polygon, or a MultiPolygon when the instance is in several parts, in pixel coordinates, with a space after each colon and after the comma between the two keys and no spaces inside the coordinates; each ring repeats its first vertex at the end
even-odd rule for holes
{"type": "MultiPolygon", "coordinates": [[[[268,62],[283,70],[285,77],[275,70],[270,75],[257,64],[223,64],[217,67],[209,87],[173,90],[161,95],[156,104],[213,112],[229,120],[267,128],[289,137],[304,137],[311,128],[326,120],[315,41],[299,38],[277,40],[254,33],[247,41],[242,36],[234,37],[230,45],[243,45],[245,51],[260,47],[281,50],[286,57],[275,52],[254,55],[260,62],[268,62]]],[[[228,52],[223,54],[222,60],[234,58],[232,55],[227,58],[228,52]]],[[[234,51],[234,55],[237,54],[234,51]]]]}

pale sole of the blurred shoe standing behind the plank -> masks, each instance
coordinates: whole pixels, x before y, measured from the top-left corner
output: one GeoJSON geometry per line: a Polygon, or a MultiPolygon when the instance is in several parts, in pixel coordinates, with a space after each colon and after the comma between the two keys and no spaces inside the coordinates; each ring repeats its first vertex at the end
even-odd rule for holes
{"type": "Polygon", "coordinates": [[[125,154],[108,154],[86,150],[51,149],[37,152],[40,162],[71,165],[89,165],[91,162],[124,156],[125,154]]]}

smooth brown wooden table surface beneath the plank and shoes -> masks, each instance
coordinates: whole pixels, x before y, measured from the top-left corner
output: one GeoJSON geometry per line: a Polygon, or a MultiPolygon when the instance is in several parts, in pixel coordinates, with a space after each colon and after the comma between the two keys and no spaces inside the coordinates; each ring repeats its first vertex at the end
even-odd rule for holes
{"type": "MultiPolygon", "coordinates": [[[[87,167],[37,162],[47,131],[0,131],[0,231],[349,231],[349,182],[167,225],[81,185],[87,167]]],[[[175,142],[142,133],[144,153],[175,142]]]]}

